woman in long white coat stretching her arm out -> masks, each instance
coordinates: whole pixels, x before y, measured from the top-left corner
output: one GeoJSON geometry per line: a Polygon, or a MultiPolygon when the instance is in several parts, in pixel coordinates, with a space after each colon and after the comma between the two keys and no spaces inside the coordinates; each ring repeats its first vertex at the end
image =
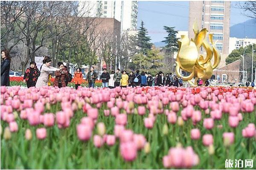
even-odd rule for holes
{"type": "Polygon", "coordinates": [[[59,70],[58,68],[51,67],[51,62],[51,59],[47,59],[47,61],[42,65],[40,76],[38,77],[38,81],[36,82],[35,87],[39,88],[47,85],[49,74],[52,74],[52,71],[59,70]]]}

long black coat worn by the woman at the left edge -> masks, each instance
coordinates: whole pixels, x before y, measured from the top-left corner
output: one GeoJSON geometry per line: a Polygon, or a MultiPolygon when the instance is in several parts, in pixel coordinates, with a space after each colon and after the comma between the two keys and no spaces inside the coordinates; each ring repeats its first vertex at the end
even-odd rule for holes
{"type": "Polygon", "coordinates": [[[9,59],[5,59],[1,63],[1,86],[2,85],[10,86],[10,78],[9,78],[10,63],[11,61],[9,59]]]}

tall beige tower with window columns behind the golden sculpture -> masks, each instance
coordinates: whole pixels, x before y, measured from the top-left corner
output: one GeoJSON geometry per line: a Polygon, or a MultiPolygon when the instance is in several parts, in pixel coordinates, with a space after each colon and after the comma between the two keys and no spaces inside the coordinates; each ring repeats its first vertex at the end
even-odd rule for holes
{"type": "Polygon", "coordinates": [[[189,38],[194,37],[193,23],[213,34],[216,48],[221,53],[219,67],[225,65],[229,54],[230,1],[189,1],[189,38]]]}

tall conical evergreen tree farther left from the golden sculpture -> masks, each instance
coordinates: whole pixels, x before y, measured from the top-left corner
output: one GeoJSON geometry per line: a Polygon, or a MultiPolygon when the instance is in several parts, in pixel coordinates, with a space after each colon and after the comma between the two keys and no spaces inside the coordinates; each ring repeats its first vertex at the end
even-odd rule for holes
{"type": "Polygon", "coordinates": [[[137,46],[140,48],[140,52],[144,55],[147,53],[147,50],[151,49],[152,43],[150,43],[150,37],[148,37],[148,31],[144,27],[143,21],[141,22],[141,26],[138,29],[139,32],[137,34],[137,46]]]}

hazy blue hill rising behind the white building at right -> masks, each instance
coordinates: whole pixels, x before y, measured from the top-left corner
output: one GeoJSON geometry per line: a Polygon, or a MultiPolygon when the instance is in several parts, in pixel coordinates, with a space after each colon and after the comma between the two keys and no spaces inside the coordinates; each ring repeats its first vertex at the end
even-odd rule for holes
{"type": "Polygon", "coordinates": [[[230,37],[256,38],[256,19],[250,19],[230,27],[230,37]]]}

